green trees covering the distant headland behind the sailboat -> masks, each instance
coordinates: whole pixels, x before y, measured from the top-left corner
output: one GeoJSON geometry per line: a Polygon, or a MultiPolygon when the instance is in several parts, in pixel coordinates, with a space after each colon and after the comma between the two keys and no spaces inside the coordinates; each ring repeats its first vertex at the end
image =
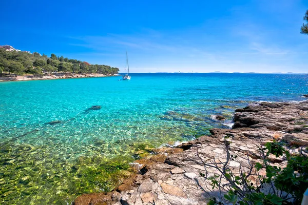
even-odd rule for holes
{"type": "Polygon", "coordinates": [[[14,73],[17,75],[34,74],[42,75],[44,73],[99,73],[99,74],[117,74],[118,68],[106,65],[91,65],[85,61],[77,59],[68,59],[63,56],[51,54],[50,57],[42,56],[34,52],[6,51],[0,48],[0,73],[14,73]]]}

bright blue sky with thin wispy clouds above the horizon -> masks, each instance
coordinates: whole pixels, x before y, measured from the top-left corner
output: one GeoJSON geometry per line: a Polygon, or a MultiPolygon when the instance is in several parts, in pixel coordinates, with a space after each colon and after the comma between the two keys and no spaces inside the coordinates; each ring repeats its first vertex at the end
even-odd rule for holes
{"type": "Polygon", "coordinates": [[[131,72],[308,72],[308,1],[2,0],[0,45],[131,72]],[[5,28],[5,29],[4,29],[5,28]]]}

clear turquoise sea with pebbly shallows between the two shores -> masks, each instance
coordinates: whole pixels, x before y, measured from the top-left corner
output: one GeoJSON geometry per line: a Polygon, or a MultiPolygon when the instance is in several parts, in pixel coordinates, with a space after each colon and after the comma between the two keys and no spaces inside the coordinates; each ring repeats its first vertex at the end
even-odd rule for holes
{"type": "Polygon", "coordinates": [[[120,78],[0,83],[0,203],[67,204],[111,190],[138,154],[229,128],[233,111],[249,103],[300,101],[308,93],[308,75],[120,78]]]}

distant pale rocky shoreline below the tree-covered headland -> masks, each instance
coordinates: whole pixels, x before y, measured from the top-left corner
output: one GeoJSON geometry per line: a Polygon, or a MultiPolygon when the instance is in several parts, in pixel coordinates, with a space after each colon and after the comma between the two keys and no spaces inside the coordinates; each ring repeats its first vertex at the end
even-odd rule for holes
{"type": "Polygon", "coordinates": [[[0,81],[22,81],[22,80],[48,80],[48,79],[62,79],[62,78],[85,78],[85,77],[107,77],[117,76],[118,74],[98,74],[98,73],[53,73],[44,75],[17,75],[16,77],[0,77],[0,81]]]}

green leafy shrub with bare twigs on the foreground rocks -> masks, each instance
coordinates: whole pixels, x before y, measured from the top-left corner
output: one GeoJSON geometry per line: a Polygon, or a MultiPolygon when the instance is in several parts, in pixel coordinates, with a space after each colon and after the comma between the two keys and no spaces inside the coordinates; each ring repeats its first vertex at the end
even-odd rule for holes
{"type": "MultiPolygon", "coordinates": [[[[229,153],[228,145],[225,145],[226,152],[229,153]]],[[[235,176],[232,171],[227,168],[228,161],[234,158],[233,155],[227,154],[227,163],[223,168],[216,167],[216,169],[222,173],[221,175],[214,175],[207,179],[211,181],[210,185],[212,189],[219,188],[226,190],[224,185],[221,185],[220,179],[224,178],[227,181],[228,191],[227,194],[217,200],[215,197],[210,199],[207,204],[300,204],[303,193],[308,187],[308,158],[304,155],[290,156],[290,153],[286,151],[281,142],[273,141],[265,143],[264,147],[259,148],[263,162],[257,162],[254,166],[259,183],[254,185],[248,180],[248,175],[240,172],[240,175],[235,176]],[[268,163],[267,157],[269,154],[274,154],[276,157],[286,157],[287,166],[283,169],[272,166],[268,163]],[[259,175],[259,171],[265,168],[266,175],[259,175]],[[271,190],[267,193],[262,192],[262,186],[272,186],[271,190]],[[288,201],[292,199],[293,201],[288,201]]],[[[208,166],[209,164],[204,164],[208,166]]],[[[210,165],[212,168],[215,167],[210,165]]],[[[251,168],[253,170],[253,167],[251,168]]],[[[201,176],[206,177],[205,174],[200,173],[201,176]]],[[[258,182],[257,181],[257,182],[258,182]]]]}

